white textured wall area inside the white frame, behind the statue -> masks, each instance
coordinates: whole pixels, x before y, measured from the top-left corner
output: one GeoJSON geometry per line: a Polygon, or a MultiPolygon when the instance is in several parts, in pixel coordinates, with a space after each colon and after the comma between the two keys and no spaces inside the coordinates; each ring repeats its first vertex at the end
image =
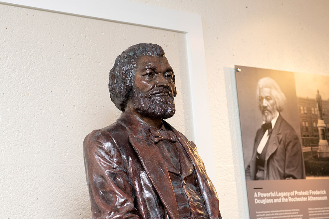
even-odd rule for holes
{"type": "Polygon", "coordinates": [[[119,117],[109,71],[131,45],[164,48],[179,91],[168,121],[192,139],[185,38],[0,4],[0,218],[91,218],[82,143],[119,117]]]}

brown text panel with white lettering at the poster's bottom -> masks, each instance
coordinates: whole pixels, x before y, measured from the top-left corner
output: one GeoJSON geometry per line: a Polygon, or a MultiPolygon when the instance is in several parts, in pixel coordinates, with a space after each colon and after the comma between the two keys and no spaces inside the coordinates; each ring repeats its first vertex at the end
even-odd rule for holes
{"type": "Polygon", "coordinates": [[[328,179],[247,181],[251,219],[328,219],[328,179]]]}

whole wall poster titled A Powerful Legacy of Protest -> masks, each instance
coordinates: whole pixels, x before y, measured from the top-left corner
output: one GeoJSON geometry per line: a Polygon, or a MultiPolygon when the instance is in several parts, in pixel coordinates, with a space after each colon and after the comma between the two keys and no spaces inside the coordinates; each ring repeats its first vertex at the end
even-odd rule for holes
{"type": "Polygon", "coordinates": [[[329,219],[329,77],[235,66],[251,219],[329,219]]]}

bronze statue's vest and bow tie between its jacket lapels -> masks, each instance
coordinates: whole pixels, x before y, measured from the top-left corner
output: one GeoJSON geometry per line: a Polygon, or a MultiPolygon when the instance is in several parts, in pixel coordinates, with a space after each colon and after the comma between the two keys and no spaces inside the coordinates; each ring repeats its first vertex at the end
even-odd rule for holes
{"type": "Polygon", "coordinates": [[[197,186],[193,164],[182,145],[177,142],[173,132],[165,131],[168,127],[165,128],[164,125],[160,131],[146,125],[142,126],[149,132],[150,138],[159,149],[167,166],[176,197],[179,218],[207,219],[208,214],[197,186]]]}

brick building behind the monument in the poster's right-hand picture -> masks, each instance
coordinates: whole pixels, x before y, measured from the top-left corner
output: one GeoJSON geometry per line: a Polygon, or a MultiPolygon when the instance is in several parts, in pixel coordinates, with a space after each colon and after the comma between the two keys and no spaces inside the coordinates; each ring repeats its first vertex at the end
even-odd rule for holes
{"type": "MultiPolygon", "coordinates": [[[[316,99],[297,97],[297,105],[302,146],[318,146],[319,132],[316,125],[319,112],[316,99]]],[[[322,100],[322,117],[326,124],[326,137],[329,140],[329,99],[322,100]]]]}

